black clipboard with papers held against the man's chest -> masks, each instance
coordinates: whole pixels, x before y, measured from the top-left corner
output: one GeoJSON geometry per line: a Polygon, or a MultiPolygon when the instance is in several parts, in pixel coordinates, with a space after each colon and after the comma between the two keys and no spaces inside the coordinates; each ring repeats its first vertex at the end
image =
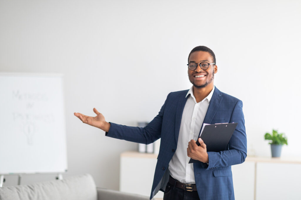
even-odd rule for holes
{"type": "MultiPolygon", "coordinates": [[[[200,137],[206,144],[207,152],[224,151],[230,141],[230,138],[238,123],[221,123],[221,124],[210,124],[204,127],[200,137]]],[[[197,138],[197,146],[200,143],[197,138]]],[[[188,163],[193,163],[198,160],[190,159],[188,163]]]]}

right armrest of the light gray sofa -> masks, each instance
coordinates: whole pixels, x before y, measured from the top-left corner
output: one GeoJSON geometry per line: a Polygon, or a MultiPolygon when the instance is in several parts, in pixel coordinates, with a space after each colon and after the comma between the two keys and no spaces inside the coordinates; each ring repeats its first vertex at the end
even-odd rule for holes
{"type": "Polygon", "coordinates": [[[149,200],[148,197],[97,187],[98,200],[149,200]]]}

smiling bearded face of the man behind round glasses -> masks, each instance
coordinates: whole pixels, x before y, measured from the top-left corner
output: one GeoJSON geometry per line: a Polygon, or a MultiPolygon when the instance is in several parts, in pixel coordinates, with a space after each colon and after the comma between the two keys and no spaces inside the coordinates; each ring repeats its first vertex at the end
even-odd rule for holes
{"type": "MultiPolygon", "coordinates": [[[[195,51],[191,53],[188,63],[195,62],[208,62],[213,63],[213,58],[209,52],[206,51],[195,51]]],[[[188,68],[188,77],[190,82],[197,88],[204,88],[206,86],[213,87],[214,74],[217,72],[217,66],[212,64],[209,65],[208,69],[203,70],[200,65],[197,65],[195,70],[188,68]]]]}

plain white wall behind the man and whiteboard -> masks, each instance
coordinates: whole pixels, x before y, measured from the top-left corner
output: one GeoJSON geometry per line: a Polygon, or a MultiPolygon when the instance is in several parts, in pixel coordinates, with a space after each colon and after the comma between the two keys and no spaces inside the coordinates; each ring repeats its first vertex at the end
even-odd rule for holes
{"type": "MultiPolygon", "coordinates": [[[[263,135],[276,128],[288,137],[282,156],[301,156],[300,9],[297,0],[2,0],[0,71],[64,74],[69,174],[91,173],[101,187],[118,189],[119,154],[137,144],[73,112],[151,120],[169,92],[191,86],[187,57],[198,45],[216,54],[217,88],[244,102],[249,153],[269,156],[263,135]]],[[[53,178],[32,177],[23,183],[53,178]]]]}

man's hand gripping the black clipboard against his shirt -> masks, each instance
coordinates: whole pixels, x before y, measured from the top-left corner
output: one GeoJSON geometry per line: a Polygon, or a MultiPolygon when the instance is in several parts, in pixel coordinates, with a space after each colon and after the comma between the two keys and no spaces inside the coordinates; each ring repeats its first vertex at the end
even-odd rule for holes
{"type": "Polygon", "coordinates": [[[188,142],[187,156],[199,160],[201,162],[209,162],[207,147],[204,141],[201,138],[198,138],[200,146],[197,146],[195,140],[188,142]]]}

